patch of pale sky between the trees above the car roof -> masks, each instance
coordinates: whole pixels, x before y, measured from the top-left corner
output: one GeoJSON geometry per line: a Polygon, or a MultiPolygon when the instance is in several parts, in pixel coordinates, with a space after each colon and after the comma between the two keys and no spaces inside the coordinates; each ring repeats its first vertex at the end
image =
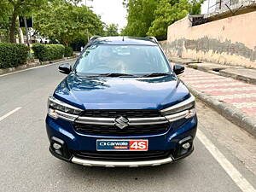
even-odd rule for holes
{"type": "MultiPolygon", "coordinates": [[[[82,0],[85,3],[85,0],[82,0]]],[[[118,24],[119,29],[126,26],[126,9],[123,0],[86,0],[87,6],[92,6],[96,15],[101,15],[106,24],[118,24]]]]}

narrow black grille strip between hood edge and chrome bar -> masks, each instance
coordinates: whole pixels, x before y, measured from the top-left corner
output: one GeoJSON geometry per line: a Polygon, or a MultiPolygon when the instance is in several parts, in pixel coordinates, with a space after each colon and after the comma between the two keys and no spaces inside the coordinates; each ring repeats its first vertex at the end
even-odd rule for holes
{"type": "Polygon", "coordinates": [[[125,118],[152,118],[160,117],[161,115],[157,109],[88,109],[81,116],[96,118],[117,118],[120,116],[125,118]]]}

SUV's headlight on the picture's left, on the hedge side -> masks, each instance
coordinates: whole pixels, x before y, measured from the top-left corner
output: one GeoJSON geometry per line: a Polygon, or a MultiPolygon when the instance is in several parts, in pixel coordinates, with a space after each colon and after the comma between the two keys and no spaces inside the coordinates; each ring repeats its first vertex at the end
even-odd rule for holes
{"type": "Polygon", "coordinates": [[[61,102],[57,100],[54,96],[48,97],[48,114],[52,118],[61,118],[67,120],[73,120],[78,117],[83,110],[80,108],[75,108],[66,102],[61,102]]]}

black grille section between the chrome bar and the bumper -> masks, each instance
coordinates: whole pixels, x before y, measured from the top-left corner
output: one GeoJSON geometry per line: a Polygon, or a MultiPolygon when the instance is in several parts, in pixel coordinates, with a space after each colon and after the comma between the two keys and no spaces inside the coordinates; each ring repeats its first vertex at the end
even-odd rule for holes
{"type": "Polygon", "coordinates": [[[142,136],[164,133],[169,130],[170,124],[157,125],[129,125],[124,129],[119,129],[115,125],[90,125],[75,123],[74,128],[84,134],[98,136],[142,136]]]}

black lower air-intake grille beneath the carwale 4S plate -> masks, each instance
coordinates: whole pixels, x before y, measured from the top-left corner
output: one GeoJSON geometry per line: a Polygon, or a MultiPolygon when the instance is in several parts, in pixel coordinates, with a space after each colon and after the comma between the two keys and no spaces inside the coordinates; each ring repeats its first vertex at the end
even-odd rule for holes
{"type": "Polygon", "coordinates": [[[170,151],[73,151],[80,159],[90,160],[158,160],[168,157],[170,151]]]}

